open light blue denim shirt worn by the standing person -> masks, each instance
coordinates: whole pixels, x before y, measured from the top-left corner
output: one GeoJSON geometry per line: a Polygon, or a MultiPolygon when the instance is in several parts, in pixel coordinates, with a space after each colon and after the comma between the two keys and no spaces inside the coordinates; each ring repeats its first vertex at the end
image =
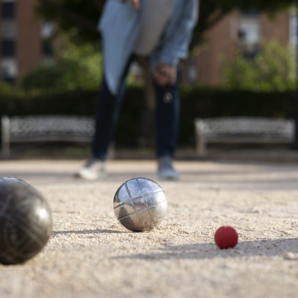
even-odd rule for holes
{"type": "MultiPolygon", "coordinates": [[[[141,5],[143,0],[141,1],[141,5]]],[[[175,0],[159,46],[150,55],[151,69],[158,62],[177,65],[188,55],[199,10],[199,0],[175,0]]],[[[140,29],[142,8],[129,2],[107,0],[98,29],[102,36],[103,71],[113,94],[118,93],[120,79],[131,57],[140,29]]]]}

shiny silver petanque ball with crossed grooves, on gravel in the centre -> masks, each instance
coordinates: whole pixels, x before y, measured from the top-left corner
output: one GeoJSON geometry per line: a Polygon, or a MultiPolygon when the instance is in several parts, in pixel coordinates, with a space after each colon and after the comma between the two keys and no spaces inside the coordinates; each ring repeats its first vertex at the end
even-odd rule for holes
{"type": "Polygon", "coordinates": [[[153,180],[134,178],[123,183],[114,196],[117,220],[134,232],[150,231],[164,219],[167,200],[153,180]]]}

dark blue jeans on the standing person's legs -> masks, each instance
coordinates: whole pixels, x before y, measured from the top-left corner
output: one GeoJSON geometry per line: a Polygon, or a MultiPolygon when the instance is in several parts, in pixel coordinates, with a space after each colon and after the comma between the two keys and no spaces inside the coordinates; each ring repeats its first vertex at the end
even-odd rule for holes
{"type": "MultiPolygon", "coordinates": [[[[96,113],[95,134],[92,143],[92,155],[95,158],[105,160],[108,147],[113,141],[119,109],[125,92],[125,81],[133,57],[130,59],[122,76],[118,94],[111,94],[103,76],[96,113]]],[[[173,156],[176,148],[179,116],[180,97],[178,81],[174,85],[160,86],[154,81],[156,98],[156,155],[157,157],[173,156]]]]}

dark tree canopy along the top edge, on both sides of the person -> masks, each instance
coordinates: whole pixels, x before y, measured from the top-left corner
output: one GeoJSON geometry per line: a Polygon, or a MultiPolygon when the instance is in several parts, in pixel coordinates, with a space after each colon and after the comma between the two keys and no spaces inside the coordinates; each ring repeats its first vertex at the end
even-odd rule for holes
{"type": "MultiPolygon", "coordinates": [[[[75,30],[78,42],[94,42],[99,39],[97,23],[106,0],[38,0],[38,13],[55,21],[58,30],[75,30]]],[[[116,0],[115,0],[116,1],[116,0]]],[[[200,16],[195,29],[193,44],[202,40],[204,32],[235,8],[258,9],[274,13],[288,7],[294,0],[201,0],[200,16]]]]}

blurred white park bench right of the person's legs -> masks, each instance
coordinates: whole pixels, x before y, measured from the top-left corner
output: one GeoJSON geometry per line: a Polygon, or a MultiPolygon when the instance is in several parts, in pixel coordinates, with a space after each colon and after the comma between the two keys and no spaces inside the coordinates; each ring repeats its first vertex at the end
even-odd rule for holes
{"type": "Polygon", "coordinates": [[[207,145],[291,144],[295,139],[294,120],[263,117],[197,118],[196,151],[207,154],[207,145]]]}

